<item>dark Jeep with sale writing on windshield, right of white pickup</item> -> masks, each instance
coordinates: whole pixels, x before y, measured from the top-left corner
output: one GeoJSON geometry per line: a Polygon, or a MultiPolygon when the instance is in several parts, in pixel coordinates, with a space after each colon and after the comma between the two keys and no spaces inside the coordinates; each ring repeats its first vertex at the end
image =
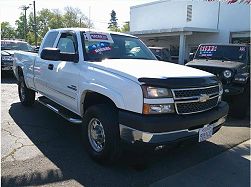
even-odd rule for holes
{"type": "Polygon", "coordinates": [[[201,44],[186,65],[215,74],[223,84],[223,99],[229,102],[232,116],[246,115],[250,103],[249,45],[201,44]]]}

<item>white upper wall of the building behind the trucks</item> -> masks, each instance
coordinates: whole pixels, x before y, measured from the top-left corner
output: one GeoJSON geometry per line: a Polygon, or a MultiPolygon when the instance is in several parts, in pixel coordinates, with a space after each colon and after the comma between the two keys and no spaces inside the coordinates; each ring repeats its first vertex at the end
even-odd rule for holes
{"type": "MultiPolygon", "coordinates": [[[[218,30],[216,33],[192,32],[186,36],[185,56],[188,57],[191,47],[201,43],[229,43],[231,32],[250,31],[250,6],[218,1],[163,0],[130,9],[132,32],[184,27],[218,30]],[[187,5],[192,5],[192,20],[189,22],[187,5]]],[[[179,45],[179,36],[141,39],[148,46],[170,48],[179,45]]]]}

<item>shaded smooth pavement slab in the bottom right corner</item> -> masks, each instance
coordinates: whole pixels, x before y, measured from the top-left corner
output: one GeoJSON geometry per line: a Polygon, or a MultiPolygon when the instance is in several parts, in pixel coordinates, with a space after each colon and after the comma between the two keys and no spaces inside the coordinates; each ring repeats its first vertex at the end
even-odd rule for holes
{"type": "Polygon", "coordinates": [[[205,162],[155,182],[151,184],[150,187],[249,186],[249,166],[250,140],[205,162]],[[189,181],[189,183],[187,181],[189,181]]]}

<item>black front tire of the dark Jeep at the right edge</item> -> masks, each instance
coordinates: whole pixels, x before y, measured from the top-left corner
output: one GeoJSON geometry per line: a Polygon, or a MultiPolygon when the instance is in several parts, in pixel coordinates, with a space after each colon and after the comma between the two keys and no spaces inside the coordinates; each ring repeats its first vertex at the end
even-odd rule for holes
{"type": "Polygon", "coordinates": [[[230,114],[235,118],[245,118],[250,104],[250,90],[245,88],[243,94],[231,98],[230,114]]]}

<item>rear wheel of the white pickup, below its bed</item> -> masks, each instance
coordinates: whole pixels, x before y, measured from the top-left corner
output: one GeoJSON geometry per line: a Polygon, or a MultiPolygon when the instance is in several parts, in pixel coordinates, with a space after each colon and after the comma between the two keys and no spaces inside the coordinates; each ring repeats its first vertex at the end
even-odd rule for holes
{"type": "Polygon", "coordinates": [[[35,91],[27,88],[24,77],[21,76],[18,81],[18,95],[24,106],[32,106],[35,102],[35,91]]]}

